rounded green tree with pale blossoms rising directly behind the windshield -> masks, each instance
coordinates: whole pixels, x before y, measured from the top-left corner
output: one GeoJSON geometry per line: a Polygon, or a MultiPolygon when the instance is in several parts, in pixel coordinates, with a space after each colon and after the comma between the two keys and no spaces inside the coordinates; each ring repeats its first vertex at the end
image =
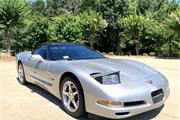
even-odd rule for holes
{"type": "Polygon", "coordinates": [[[106,27],[106,21],[94,10],[84,11],[79,17],[81,19],[80,25],[84,39],[88,41],[90,47],[93,49],[94,44],[98,40],[99,33],[106,27]]]}

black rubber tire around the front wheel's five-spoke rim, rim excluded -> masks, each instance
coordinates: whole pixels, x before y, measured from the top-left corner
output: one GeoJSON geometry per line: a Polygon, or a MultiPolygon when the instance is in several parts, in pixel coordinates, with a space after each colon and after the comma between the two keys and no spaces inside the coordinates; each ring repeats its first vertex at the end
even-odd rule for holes
{"type": "Polygon", "coordinates": [[[62,103],[63,103],[65,112],[68,113],[69,115],[71,115],[72,117],[75,117],[75,118],[80,118],[83,115],[85,115],[86,112],[85,112],[85,104],[84,104],[84,95],[83,95],[83,90],[82,90],[80,83],[78,83],[77,80],[74,79],[73,77],[65,77],[62,81],[60,90],[61,90],[60,91],[61,92],[61,98],[62,98],[62,103]],[[74,112],[68,110],[64,104],[63,86],[67,81],[72,82],[76,86],[78,94],[79,94],[79,105],[77,107],[77,110],[74,112]]]}

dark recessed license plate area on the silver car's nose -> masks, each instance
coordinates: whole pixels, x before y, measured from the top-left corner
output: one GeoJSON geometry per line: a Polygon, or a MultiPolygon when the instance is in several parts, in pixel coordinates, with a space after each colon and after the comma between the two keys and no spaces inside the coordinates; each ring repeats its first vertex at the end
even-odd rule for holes
{"type": "Polygon", "coordinates": [[[163,100],[164,98],[164,92],[162,89],[156,90],[151,93],[153,103],[156,104],[163,100]]]}

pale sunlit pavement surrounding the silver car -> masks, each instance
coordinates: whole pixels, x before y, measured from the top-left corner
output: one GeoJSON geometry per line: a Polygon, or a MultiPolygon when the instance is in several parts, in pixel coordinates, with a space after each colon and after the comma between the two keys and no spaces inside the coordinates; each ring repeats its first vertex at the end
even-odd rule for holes
{"type": "MultiPolygon", "coordinates": [[[[180,120],[180,60],[152,57],[121,57],[146,63],[164,74],[170,84],[170,97],[163,108],[124,120],[180,120]]],[[[67,115],[60,100],[45,90],[18,83],[15,61],[0,61],[0,120],[75,120],[67,115]]],[[[90,120],[86,116],[79,120],[90,120]]]]}

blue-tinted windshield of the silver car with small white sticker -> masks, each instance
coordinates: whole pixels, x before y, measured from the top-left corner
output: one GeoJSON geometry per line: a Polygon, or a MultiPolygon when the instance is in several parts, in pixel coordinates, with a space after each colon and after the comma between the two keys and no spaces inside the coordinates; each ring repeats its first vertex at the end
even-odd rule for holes
{"type": "Polygon", "coordinates": [[[103,55],[88,49],[83,45],[68,44],[68,45],[51,45],[49,52],[52,60],[76,60],[76,59],[101,59],[103,55]]]}

